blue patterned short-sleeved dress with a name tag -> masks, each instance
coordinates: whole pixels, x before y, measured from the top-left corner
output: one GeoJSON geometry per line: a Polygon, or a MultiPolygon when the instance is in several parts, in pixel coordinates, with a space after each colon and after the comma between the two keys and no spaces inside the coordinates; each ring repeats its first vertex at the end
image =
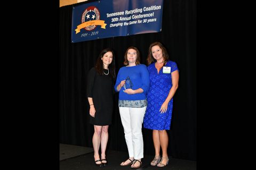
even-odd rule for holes
{"type": "MultiPolygon", "coordinates": [[[[165,66],[171,67],[171,72],[178,70],[177,64],[172,61],[167,61],[165,66]]],[[[159,110],[172,88],[172,75],[171,73],[163,73],[163,68],[157,73],[155,63],[148,66],[148,71],[150,88],[147,93],[148,106],[143,120],[144,128],[170,130],[173,98],[169,101],[165,113],[161,114],[159,110]]]]}

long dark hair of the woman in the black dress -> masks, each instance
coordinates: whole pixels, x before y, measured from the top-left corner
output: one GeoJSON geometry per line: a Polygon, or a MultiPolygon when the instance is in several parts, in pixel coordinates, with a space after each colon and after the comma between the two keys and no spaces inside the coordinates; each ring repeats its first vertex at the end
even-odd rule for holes
{"type": "Polygon", "coordinates": [[[116,73],[115,73],[115,54],[114,54],[114,50],[111,48],[105,48],[100,52],[100,55],[98,57],[98,60],[95,64],[95,70],[98,72],[99,75],[103,75],[103,62],[101,60],[101,58],[103,57],[104,54],[106,54],[107,52],[111,52],[113,54],[113,59],[112,62],[108,65],[108,70],[109,73],[111,75],[111,79],[115,79],[116,78],[116,73]]]}

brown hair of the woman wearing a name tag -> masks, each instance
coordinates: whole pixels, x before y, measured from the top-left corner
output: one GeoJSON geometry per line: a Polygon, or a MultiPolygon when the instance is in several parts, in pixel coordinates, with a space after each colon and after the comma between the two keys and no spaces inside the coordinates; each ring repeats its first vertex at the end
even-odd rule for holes
{"type": "Polygon", "coordinates": [[[152,50],[151,50],[151,48],[154,47],[154,46],[159,46],[162,49],[163,58],[164,58],[164,65],[165,65],[167,63],[167,61],[169,60],[169,55],[167,53],[166,48],[159,42],[155,42],[155,43],[150,44],[150,46],[148,48],[148,57],[147,57],[148,65],[153,63],[153,62],[156,62],[156,59],[153,57],[152,50]]]}

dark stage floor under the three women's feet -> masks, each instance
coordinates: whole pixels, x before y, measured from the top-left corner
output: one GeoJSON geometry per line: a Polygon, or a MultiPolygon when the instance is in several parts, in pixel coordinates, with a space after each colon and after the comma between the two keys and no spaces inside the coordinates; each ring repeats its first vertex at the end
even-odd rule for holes
{"type": "MultiPolygon", "coordinates": [[[[106,157],[108,165],[98,167],[94,165],[93,148],[60,144],[60,170],[121,170],[133,169],[130,166],[120,166],[119,164],[128,158],[128,152],[107,150],[106,157]]],[[[154,158],[151,155],[144,155],[142,167],[137,169],[170,169],[170,170],[196,170],[196,161],[170,158],[169,164],[165,167],[151,166],[150,162],[154,158]]]]}

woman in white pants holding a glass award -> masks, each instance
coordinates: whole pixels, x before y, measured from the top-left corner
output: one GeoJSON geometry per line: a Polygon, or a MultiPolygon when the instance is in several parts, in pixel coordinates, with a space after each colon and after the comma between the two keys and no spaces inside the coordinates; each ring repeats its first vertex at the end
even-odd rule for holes
{"type": "Polygon", "coordinates": [[[115,90],[119,91],[119,113],[124,127],[124,136],[129,159],[121,166],[141,166],[143,158],[142,123],[146,112],[146,93],[149,90],[147,66],[140,64],[140,53],[136,47],[127,48],[124,55],[124,67],[117,74],[115,90]]]}

